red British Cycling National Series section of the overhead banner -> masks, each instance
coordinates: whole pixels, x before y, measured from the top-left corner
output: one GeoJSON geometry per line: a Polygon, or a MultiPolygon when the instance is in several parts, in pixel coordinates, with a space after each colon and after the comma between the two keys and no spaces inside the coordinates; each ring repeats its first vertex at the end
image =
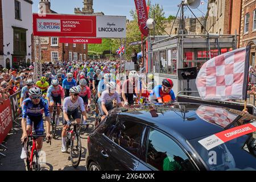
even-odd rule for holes
{"type": "Polygon", "coordinates": [[[96,37],[96,16],[33,14],[34,36],[96,37]]]}

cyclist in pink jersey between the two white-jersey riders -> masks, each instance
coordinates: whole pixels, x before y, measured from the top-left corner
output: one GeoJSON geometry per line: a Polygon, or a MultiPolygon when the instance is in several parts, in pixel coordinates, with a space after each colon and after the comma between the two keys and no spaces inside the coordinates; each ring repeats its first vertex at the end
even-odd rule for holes
{"type": "Polygon", "coordinates": [[[82,100],[84,100],[85,107],[87,109],[90,109],[92,98],[90,97],[90,88],[87,86],[87,81],[85,79],[80,80],[79,88],[81,89],[81,93],[79,94],[79,96],[82,98],[82,100]]]}

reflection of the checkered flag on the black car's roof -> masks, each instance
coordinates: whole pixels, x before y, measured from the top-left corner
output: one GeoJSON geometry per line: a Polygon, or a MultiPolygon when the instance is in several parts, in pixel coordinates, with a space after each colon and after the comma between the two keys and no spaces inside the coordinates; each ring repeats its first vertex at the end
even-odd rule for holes
{"type": "Polygon", "coordinates": [[[224,128],[238,117],[237,114],[230,113],[225,109],[203,105],[198,107],[196,114],[204,121],[224,128]]]}

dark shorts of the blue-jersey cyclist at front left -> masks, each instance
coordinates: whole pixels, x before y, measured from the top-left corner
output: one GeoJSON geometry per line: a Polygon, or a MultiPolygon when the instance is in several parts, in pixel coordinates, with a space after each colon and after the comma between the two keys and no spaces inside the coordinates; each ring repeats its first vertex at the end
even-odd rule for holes
{"type": "Polygon", "coordinates": [[[44,133],[43,115],[41,116],[27,115],[27,125],[33,126],[33,124],[34,124],[34,130],[37,135],[41,135],[44,133]]]}

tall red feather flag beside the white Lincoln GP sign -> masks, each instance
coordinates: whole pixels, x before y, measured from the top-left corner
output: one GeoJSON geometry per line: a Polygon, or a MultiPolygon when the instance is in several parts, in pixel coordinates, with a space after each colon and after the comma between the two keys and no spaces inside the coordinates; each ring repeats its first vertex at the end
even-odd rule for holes
{"type": "Polygon", "coordinates": [[[148,28],[146,26],[146,22],[148,19],[147,13],[147,4],[145,0],[134,0],[137,14],[138,14],[138,24],[139,30],[144,36],[148,35],[148,28]]]}

